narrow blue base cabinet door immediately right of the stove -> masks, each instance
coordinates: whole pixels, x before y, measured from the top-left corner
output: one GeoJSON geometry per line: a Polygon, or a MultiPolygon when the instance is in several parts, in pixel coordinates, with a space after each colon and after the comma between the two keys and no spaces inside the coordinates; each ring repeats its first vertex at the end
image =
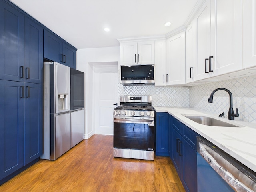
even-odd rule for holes
{"type": "Polygon", "coordinates": [[[156,113],[156,155],[169,156],[168,113],[156,113]]]}

